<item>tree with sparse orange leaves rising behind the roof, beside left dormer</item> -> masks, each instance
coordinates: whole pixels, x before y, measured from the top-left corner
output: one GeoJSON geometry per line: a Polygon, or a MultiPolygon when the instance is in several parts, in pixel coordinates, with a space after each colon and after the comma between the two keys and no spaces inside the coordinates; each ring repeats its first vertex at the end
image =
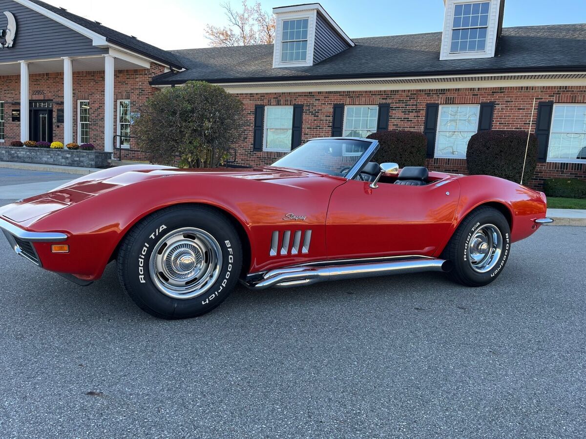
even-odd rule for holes
{"type": "Polygon", "coordinates": [[[206,38],[210,46],[250,46],[251,44],[272,44],[275,39],[275,17],[264,12],[260,3],[248,6],[242,2],[242,11],[237,11],[230,2],[221,3],[226,11],[228,26],[207,25],[206,38]]]}

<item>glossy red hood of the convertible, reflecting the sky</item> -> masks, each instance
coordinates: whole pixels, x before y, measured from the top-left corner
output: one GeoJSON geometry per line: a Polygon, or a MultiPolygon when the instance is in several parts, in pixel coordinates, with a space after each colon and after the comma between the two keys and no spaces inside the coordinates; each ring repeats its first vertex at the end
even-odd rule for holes
{"type": "Polygon", "coordinates": [[[152,165],[121,166],[88,174],[87,176],[80,177],[79,179],[54,188],[48,193],[6,205],[0,208],[0,215],[18,223],[33,219],[36,220],[52,212],[62,210],[71,204],[80,203],[87,198],[98,196],[116,188],[140,183],[145,180],[186,175],[193,176],[197,179],[214,176],[260,181],[321,176],[321,174],[270,166],[231,170],[226,170],[225,168],[178,169],[152,165]]]}

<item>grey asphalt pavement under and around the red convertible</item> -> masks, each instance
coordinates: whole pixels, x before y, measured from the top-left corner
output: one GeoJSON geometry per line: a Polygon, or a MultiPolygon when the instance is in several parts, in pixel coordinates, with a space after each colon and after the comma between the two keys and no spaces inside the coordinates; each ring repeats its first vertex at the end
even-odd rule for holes
{"type": "MultiPolygon", "coordinates": [[[[76,177],[0,169],[0,190],[76,177]]],[[[542,227],[479,289],[440,273],[239,287],[163,321],[115,263],[79,287],[0,240],[0,437],[583,438],[585,243],[542,227]]]]}

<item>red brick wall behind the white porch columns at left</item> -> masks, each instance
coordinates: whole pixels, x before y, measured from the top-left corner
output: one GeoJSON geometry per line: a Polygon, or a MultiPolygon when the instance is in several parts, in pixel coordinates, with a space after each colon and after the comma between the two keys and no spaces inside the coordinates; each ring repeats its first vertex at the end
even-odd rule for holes
{"type": "MultiPolygon", "coordinates": [[[[139,107],[156,92],[149,85],[155,75],[164,68],[151,64],[150,69],[117,70],[114,73],[114,133],[116,133],[117,101],[131,100],[131,111],[139,107]]],[[[53,140],[63,141],[63,124],[57,124],[57,109],[63,108],[63,73],[31,74],[29,77],[30,100],[53,100],[53,140]]],[[[4,103],[5,145],[21,140],[20,122],[12,122],[11,111],[21,108],[21,77],[0,76],[0,101],[4,103]]],[[[77,101],[90,101],[90,142],[96,149],[104,149],[104,71],[76,71],[73,73],[73,141],[77,142],[77,101]]],[[[131,148],[136,148],[131,140],[131,148]]],[[[142,153],[123,151],[123,159],[144,160],[142,153]]]]}

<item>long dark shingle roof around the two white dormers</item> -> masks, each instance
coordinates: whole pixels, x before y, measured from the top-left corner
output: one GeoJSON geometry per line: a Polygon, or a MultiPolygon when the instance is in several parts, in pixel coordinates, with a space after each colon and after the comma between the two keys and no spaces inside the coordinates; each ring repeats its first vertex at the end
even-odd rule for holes
{"type": "Polygon", "coordinates": [[[272,44],[173,50],[187,70],[159,75],[152,84],[586,71],[586,23],[504,28],[492,58],[440,61],[441,37],[434,32],[357,38],[355,47],[321,63],[291,68],[272,68],[272,44]]]}

